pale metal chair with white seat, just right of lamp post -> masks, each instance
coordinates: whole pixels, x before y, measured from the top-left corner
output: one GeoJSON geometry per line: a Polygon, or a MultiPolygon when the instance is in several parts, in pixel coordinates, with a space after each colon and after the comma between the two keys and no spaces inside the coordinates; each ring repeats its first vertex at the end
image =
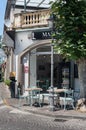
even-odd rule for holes
{"type": "Polygon", "coordinates": [[[66,110],[67,105],[74,109],[73,90],[65,90],[64,97],[60,97],[60,104],[61,107],[64,106],[64,110],[66,110]]]}

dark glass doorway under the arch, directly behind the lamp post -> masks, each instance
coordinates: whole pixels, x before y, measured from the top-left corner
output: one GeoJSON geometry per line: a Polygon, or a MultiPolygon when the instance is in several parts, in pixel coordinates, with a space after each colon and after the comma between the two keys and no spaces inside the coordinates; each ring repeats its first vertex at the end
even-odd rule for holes
{"type": "MultiPolygon", "coordinates": [[[[46,91],[51,85],[51,46],[43,46],[36,50],[36,74],[37,86],[46,91]]],[[[59,55],[54,54],[54,87],[57,87],[60,79],[59,55]]]]}

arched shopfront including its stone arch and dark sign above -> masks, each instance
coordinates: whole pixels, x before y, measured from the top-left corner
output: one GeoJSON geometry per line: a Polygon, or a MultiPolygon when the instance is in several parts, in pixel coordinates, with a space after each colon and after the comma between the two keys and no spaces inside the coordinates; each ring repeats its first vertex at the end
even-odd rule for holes
{"type": "MultiPolygon", "coordinates": [[[[27,88],[38,86],[46,91],[51,86],[51,39],[50,31],[33,33],[34,44],[21,56],[22,69],[19,73],[21,84],[27,88]]],[[[57,88],[72,88],[78,83],[77,66],[53,53],[53,85],[57,88]],[[77,80],[77,82],[76,82],[77,80]]],[[[18,69],[20,69],[19,67],[18,69]]],[[[18,73],[18,72],[17,72],[18,73]]]]}

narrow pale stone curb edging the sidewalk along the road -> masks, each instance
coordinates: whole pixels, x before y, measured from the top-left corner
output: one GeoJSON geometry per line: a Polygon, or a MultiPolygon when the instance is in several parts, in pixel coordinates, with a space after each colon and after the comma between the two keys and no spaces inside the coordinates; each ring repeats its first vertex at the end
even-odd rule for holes
{"type": "Polygon", "coordinates": [[[21,111],[24,111],[24,112],[29,112],[29,113],[32,113],[32,114],[38,114],[38,115],[44,115],[44,116],[48,116],[48,117],[54,117],[54,118],[60,118],[60,119],[83,119],[83,120],[86,120],[86,117],[81,115],[81,116],[77,116],[77,115],[73,115],[70,113],[70,115],[62,115],[62,114],[58,114],[58,113],[54,113],[54,112],[45,112],[45,110],[31,110],[31,109],[25,109],[25,108],[22,108],[22,107],[19,107],[17,106],[15,103],[11,104],[10,103],[10,100],[8,101],[8,99],[3,99],[2,101],[2,104],[5,104],[7,106],[10,106],[10,107],[13,107],[13,108],[16,108],[18,110],[21,110],[21,111]],[[3,101],[4,100],[4,101],[3,101]]]}

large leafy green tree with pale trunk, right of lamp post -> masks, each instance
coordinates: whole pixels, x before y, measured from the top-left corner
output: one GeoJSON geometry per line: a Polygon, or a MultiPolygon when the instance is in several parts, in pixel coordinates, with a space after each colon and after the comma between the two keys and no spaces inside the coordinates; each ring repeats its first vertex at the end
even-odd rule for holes
{"type": "Polygon", "coordinates": [[[86,0],[56,0],[51,4],[57,30],[56,50],[77,61],[80,99],[86,101],[86,0]]]}

